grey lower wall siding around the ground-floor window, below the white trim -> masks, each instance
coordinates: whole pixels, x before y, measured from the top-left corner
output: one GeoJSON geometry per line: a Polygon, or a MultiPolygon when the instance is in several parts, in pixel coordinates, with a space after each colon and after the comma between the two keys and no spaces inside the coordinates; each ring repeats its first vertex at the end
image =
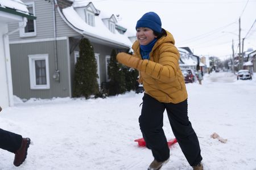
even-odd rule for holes
{"type": "Polygon", "coordinates": [[[54,41],[11,44],[11,68],[13,75],[13,94],[22,98],[31,97],[49,99],[52,97],[70,97],[70,74],[68,70],[68,43],[67,40],[57,41],[57,61],[60,70],[60,81],[52,78],[55,72],[54,41]],[[50,88],[47,90],[30,89],[30,72],[28,55],[48,54],[50,88]]]}

